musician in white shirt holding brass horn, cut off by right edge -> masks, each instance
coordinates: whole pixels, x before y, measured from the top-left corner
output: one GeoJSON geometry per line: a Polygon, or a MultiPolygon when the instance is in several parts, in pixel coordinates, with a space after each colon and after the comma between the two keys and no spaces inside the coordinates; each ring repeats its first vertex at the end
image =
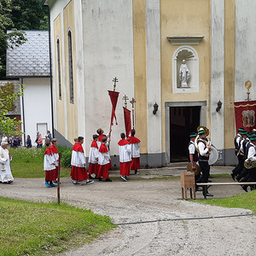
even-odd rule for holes
{"type": "MultiPolygon", "coordinates": [[[[250,143],[247,143],[247,148],[246,148],[246,161],[251,161],[252,162],[252,167],[251,168],[246,168],[247,169],[247,177],[243,178],[243,182],[255,182],[256,181],[256,165],[254,166],[254,163],[256,162],[256,136],[254,135],[253,137],[250,138],[250,143]]],[[[247,192],[247,185],[241,186],[242,189],[244,189],[247,192]]],[[[253,190],[253,187],[251,187],[253,190]]]]}

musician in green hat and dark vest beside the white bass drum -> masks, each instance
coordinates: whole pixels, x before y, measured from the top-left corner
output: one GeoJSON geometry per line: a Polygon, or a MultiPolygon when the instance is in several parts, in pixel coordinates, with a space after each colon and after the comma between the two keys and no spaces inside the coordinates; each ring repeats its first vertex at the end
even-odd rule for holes
{"type": "MultiPolygon", "coordinates": [[[[210,175],[210,166],[209,166],[208,160],[209,160],[211,145],[208,144],[205,130],[201,129],[200,131],[198,131],[198,135],[199,135],[199,141],[197,143],[198,151],[199,151],[198,159],[199,159],[199,166],[201,167],[202,176],[200,178],[200,181],[197,181],[197,182],[207,183],[210,175]]],[[[207,191],[207,196],[213,196],[213,195],[208,193],[207,191]]]]}

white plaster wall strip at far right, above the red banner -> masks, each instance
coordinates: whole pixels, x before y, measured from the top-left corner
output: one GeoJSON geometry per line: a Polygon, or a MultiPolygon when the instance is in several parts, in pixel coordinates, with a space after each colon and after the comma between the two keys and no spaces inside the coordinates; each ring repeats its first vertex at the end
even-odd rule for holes
{"type": "Polygon", "coordinates": [[[235,102],[247,98],[244,84],[251,80],[251,100],[256,100],[256,1],[236,0],[235,102]]]}

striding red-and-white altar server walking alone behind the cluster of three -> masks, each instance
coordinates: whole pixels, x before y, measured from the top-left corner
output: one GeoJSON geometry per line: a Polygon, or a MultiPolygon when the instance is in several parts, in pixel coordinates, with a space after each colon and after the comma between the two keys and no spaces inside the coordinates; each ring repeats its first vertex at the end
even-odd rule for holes
{"type": "Polygon", "coordinates": [[[89,175],[85,169],[86,161],[84,155],[84,148],[82,144],[84,143],[84,137],[78,137],[78,143],[73,145],[73,154],[71,159],[72,171],[71,178],[74,185],[81,185],[82,181],[86,181],[86,184],[93,183],[93,180],[89,179],[89,175]]]}

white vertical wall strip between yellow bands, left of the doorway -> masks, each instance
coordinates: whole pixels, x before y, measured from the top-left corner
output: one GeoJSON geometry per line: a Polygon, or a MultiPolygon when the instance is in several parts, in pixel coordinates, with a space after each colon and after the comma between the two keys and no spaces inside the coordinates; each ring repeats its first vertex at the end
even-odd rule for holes
{"type": "Polygon", "coordinates": [[[161,153],[160,1],[146,0],[148,154],[161,153]],[[153,114],[154,103],[159,105],[153,114]]]}

